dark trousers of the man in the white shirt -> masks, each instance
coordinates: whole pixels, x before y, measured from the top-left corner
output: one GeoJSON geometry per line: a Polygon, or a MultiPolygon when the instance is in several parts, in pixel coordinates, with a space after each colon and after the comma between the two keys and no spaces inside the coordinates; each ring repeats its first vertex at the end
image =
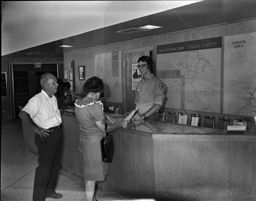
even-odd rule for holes
{"type": "Polygon", "coordinates": [[[63,147],[63,130],[49,132],[47,137],[35,134],[38,167],[35,169],[33,200],[43,201],[46,194],[55,193],[63,147]]]}

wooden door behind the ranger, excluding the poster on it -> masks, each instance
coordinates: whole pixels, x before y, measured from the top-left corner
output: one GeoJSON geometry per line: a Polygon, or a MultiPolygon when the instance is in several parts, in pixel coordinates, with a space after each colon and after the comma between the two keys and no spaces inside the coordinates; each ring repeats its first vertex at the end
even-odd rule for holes
{"type": "MultiPolygon", "coordinates": [[[[135,91],[132,90],[132,64],[137,64],[140,56],[151,57],[153,47],[124,51],[123,61],[125,70],[123,71],[123,92],[124,92],[124,113],[129,111],[134,105],[135,91]]],[[[152,58],[152,57],[151,57],[152,58]]]]}

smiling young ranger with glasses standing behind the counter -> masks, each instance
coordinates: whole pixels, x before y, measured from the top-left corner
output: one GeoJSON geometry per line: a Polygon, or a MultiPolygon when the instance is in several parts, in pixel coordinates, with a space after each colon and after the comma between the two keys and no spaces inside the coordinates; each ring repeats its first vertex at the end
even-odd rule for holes
{"type": "Polygon", "coordinates": [[[125,115],[129,115],[135,108],[139,108],[139,111],[133,116],[135,120],[145,118],[159,120],[160,115],[157,111],[163,105],[164,84],[153,75],[153,62],[149,56],[141,56],[137,62],[137,68],[143,76],[136,85],[134,107],[125,115]]]}

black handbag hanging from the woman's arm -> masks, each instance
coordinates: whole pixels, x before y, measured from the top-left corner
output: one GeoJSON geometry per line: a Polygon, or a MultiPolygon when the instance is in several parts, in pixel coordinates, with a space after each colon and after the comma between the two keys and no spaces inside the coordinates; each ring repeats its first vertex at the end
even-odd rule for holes
{"type": "Polygon", "coordinates": [[[111,163],[114,155],[114,142],[111,134],[107,133],[105,124],[105,136],[101,140],[102,162],[111,163]]]}

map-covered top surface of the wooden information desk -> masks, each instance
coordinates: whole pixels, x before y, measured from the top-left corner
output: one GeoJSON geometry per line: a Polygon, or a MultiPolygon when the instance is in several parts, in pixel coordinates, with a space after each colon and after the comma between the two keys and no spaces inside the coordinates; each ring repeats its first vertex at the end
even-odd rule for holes
{"type": "MultiPolygon", "coordinates": [[[[120,114],[105,113],[116,120],[121,122],[126,116],[120,114]]],[[[63,110],[64,116],[75,117],[74,110],[63,110]]],[[[241,132],[226,132],[220,129],[211,129],[205,127],[197,127],[183,124],[176,124],[170,122],[162,122],[156,120],[133,120],[128,123],[127,128],[121,130],[133,134],[140,134],[152,138],[218,138],[218,139],[255,139],[256,133],[247,131],[241,132]],[[139,132],[138,132],[139,131],[139,132]],[[200,136],[201,135],[201,136],[200,136]],[[202,137],[203,136],[203,137],[202,137]]]]}

